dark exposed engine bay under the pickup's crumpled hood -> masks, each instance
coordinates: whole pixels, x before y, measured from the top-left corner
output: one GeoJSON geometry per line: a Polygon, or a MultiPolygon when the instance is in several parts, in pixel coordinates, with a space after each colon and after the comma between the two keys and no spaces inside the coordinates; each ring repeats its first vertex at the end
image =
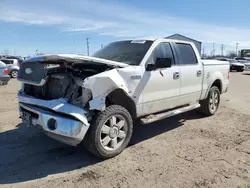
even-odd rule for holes
{"type": "Polygon", "coordinates": [[[28,96],[43,100],[64,98],[68,103],[84,108],[92,98],[91,91],[82,86],[84,79],[111,69],[113,67],[110,65],[93,62],[47,64],[44,66],[45,82],[38,85],[26,81],[23,91],[28,96]]]}

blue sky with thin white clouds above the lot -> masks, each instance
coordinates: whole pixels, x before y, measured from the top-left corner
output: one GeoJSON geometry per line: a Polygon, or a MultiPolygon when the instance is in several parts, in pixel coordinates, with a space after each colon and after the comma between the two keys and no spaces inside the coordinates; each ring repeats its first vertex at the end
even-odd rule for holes
{"type": "Polygon", "coordinates": [[[250,48],[249,0],[0,0],[0,53],[90,54],[117,40],[179,33],[210,54],[250,48]]]}

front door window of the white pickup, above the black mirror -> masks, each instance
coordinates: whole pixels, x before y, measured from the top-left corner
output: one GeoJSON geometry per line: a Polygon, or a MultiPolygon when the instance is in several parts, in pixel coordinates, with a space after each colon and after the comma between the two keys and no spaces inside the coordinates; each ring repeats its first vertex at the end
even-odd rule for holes
{"type": "Polygon", "coordinates": [[[170,58],[174,64],[174,55],[169,43],[163,42],[158,44],[154,49],[154,60],[156,60],[156,58],[170,58]]]}

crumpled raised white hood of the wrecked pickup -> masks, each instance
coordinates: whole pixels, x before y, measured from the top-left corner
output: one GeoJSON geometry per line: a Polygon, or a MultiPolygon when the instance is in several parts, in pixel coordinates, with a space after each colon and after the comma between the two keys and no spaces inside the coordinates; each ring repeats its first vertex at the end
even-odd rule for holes
{"type": "Polygon", "coordinates": [[[44,55],[44,56],[36,56],[25,60],[25,62],[39,62],[39,63],[49,63],[49,64],[78,64],[78,63],[100,63],[106,64],[115,67],[127,67],[128,65],[125,63],[110,61],[106,59],[91,57],[91,56],[83,56],[83,55],[75,55],[75,54],[58,54],[58,55],[44,55]]]}

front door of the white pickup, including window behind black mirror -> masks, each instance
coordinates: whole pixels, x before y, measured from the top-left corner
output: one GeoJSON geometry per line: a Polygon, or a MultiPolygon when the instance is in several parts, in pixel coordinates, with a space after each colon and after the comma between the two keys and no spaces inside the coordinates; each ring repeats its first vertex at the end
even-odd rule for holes
{"type": "Polygon", "coordinates": [[[141,80],[144,82],[142,91],[144,115],[171,109],[178,105],[180,67],[175,64],[169,43],[159,43],[146,64],[154,64],[156,58],[170,58],[172,66],[152,71],[145,70],[141,80]]]}

